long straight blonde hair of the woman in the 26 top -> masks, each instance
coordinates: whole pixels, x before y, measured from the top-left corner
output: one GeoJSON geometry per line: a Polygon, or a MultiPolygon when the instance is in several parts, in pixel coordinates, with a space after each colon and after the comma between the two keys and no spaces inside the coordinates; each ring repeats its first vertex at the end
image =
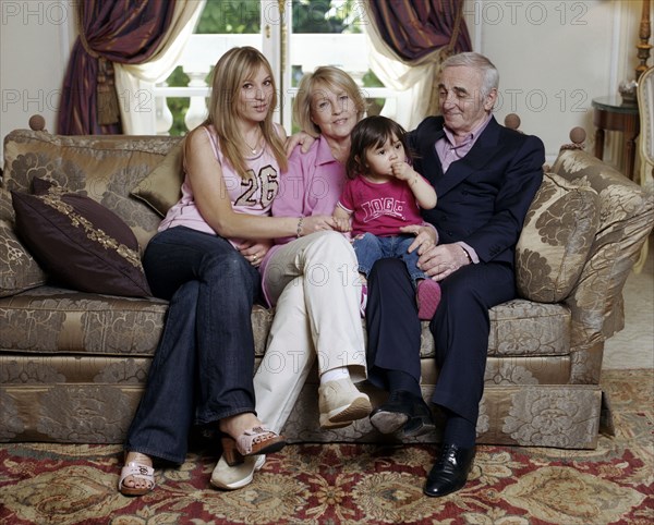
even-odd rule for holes
{"type": "Polygon", "coordinates": [[[272,122],[272,109],[277,107],[275,76],[268,60],[257,49],[250,46],[237,47],[220,57],[214,68],[208,117],[203,123],[203,125],[214,126],[220,142],[222,155],[242,179],[249,179],[249,175],[247,164],[241,152],[242,136],[238,126],[239,93],[243,82],[254,77],[262,65],[267,70],[272,81],[272,99],[270,100],[268,114],[259,125],[264,139],[272,150],[280,169],[284,171],[287,169],[284,146],[272,122]]]}

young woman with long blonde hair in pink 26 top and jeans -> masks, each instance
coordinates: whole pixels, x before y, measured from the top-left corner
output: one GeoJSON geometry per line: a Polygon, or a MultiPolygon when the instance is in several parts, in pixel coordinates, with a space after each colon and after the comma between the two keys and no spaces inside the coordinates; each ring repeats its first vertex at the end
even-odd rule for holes
{"type": "Polygon", "coordinates": [[[184,145],[182,197],[144,255],[153,293],[170,301],[147,389],[125,441],[118,488],[155,487],[153,459],[181,464],[193,425],[222,432],[230,465],[286,443],[255,412],[251,310],[275,237],[332,228],[327,216],[267,217],[286,169],[270,65],[254,48],[214,70],[209,115],[184,145]]]}

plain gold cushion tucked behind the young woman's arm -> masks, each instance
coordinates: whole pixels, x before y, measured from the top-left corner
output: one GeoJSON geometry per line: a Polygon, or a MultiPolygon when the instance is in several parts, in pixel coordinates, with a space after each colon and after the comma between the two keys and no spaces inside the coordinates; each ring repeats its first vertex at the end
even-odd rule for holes
{"type": "Polygon", "coordinates": [[[130,195],[143,200],[161,217],[182,196],[184,172],[182,167],[182,145],[178,143],[143,181],[141,181],[130,195]]]}

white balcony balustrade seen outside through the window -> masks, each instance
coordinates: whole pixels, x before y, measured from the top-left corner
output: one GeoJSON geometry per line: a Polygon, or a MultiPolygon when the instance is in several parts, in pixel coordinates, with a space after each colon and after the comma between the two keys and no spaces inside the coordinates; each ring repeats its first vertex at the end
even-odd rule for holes
{"type": "MultiPolygon", "coordinates": [[[[311,72],[318,65],[336,65],[347,71],[362,87],[368,100],[383,101],[385,114],[396,118],[407,103],[404,94],[386,87],[364,87],[362,78],[368,71],[368,41],[363,34],[348,35],[293,35],[290,45],[290,64],[294,72],[311,72]]],[[[152,134],[168,135],[173,124],[173,115],[168,107],[170,97],[189,98],[189,109],[184,114],[186,130],[197,126],[206,118],[206,99],[210,87],[205,82],[211,66],[218,58],[234,46],[261,47],[258,34],[247,35],[193,35],[179,65],[189,75],[187,87],[170,87],[166,84],[154,86],[154,119],[148,123],[152,134]]],[[[298,93],[295,87],[288,87],[280,93],[281,118],[287,132],[290,132],[292,99],[298,93]]],[[[371,112],[378,112],[378,103],[373,105],[371,112]]]]}

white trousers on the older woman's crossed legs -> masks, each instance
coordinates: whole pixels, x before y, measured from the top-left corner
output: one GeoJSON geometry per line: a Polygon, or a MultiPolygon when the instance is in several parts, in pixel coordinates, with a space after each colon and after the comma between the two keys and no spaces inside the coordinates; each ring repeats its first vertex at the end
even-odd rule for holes
{"type": "Polygon", "coordinates": [[[316,357],[322,375],[348,367],[366,378],[356,256],[338,232],[296,239],[272,255],[266,290],[277,300],[266,354],[254,376],[259,419],[279,432],[316,357]]]}

